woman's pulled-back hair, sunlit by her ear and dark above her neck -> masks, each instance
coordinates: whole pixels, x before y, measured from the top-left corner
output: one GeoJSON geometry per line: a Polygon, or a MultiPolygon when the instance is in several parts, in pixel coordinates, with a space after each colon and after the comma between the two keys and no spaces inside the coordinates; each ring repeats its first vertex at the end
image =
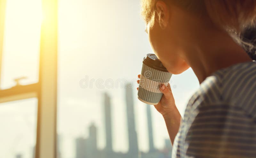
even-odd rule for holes
{"type": "MultiPolygon", "coordinates": [[[[141,0],[141,14],[144,21],[154,25],[156,2],[141,0]]],[[[208,16],[219,28],[225,29],[242,47],[253,49],[253,42],[243,41],[243,33],[252,30],[256,19],[256,0],[162,0],[191,13],[208,16]],[[242,33],[242,34],[241,34],[242,33]],[[240,38],[239,38],[240,37],[240,38]],[[245,46],[244,46],[245,45],[245,46]]],[[[256,30],[256,29],[253,29],[256,30]]]]}

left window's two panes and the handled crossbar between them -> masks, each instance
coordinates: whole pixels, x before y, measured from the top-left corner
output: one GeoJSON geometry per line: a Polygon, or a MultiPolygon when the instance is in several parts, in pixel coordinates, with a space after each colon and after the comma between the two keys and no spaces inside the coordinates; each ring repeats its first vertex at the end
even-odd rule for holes
{"type": "Polygon", "coordinates": [[[0,6],[0,157],[31,158],[37,131],[41,1],[1,0],[0,6]]]}

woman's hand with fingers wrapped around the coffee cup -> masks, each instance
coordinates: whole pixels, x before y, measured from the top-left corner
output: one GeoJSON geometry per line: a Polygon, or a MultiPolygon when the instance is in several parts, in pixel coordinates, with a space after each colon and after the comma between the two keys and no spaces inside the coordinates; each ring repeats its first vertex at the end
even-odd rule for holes
{"type": "MultiPolygon", "coordinates": [[[[138,78],[140,78],[140,75],[138,75],[138,78]]],[[[137,80],[137,83],[140,83],[140,80],[137,80]]],[[[177,108],[174,102],[170,84],[168,83],[167,87],[164,84],[161,84],[160,91],[163,93],[163,96],[160,102],[154,106],[156,110],[165,117],[170,115],[177,108]]]]}

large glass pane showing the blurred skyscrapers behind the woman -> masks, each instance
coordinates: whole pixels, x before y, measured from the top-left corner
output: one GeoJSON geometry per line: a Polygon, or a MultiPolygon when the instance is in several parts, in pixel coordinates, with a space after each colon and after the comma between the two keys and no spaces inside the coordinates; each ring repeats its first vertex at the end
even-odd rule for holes
{"type": "MultiPolygon", "coordinates": [[[[57,132],[62,158],[133,157],[129,154],[137,151],[134,157],[170,157],[163,117],[137,99],[141,61],[153,52],[144,30],[137,0],[59,1],[57,132]],[[120,82],[132,83],[132,89],[120,82]]],[[[199,83],[189,69],[173,75],[171,85],[183,115],[199,83]]]]}

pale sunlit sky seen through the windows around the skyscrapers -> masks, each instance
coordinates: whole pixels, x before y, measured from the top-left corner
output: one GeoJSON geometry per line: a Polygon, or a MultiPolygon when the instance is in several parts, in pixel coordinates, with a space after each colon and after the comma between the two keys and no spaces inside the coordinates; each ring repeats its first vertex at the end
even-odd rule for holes
{"type": "MultiPolygon", "coordinates": [[[[38,81],[41,18],[40,0],[24,0],[22,3],[7,0],[2,89],[14,86],[13,79],[21,76],[27,77],[22,84],[38,81]]],[[[109,87],[109,83],[118,79],[134,82],[139,148],[148,151],[146,106],[150,105],[137,99],[136,80],[143,57],[153,51],[140,17],[139,1],[59,0],[58,22],[57,132],[63,157],[75,157],[74,140],[80,136],[86,138],[88,126],[92,123],[97,127],[98,148],[105,147],[104,92],[111,97],[113,149],[117,152],[128,150],[125,89],[116,84],[109,87]],[[89,82],[101,80],[103,87],[97,86],[94,81],[91,87],[82,88],[79,83],[87,78],[89,82]]],[[[192,69],[188,69],[180,75],[172,75],[170,83],[176,106],[183,115],[188,99],[199,87],[197,78],[192,69]]],[[[21,137],[20,144],[25,144],[13,148],[11,144],[1,143],[3,152],[0,152],[0,158],[16,153],[22,153],[24,158],[30,157],[36,136],[36,104],[36,98],[0,104],[3,105],[0,106],[0,125],[5,129],[1,131],[0,141],[5,142],[8,138],[13,142],[16,137],[21,137]],[[17,119],[24,116],[28,116],[27,119],[17,119]],[[23,130],[17,131],[16,124],[23,130]]],[[[168,139],[164,119],[153,106],[151,111],[155,146],[162,148],[164,139],[168,139]]]]}

